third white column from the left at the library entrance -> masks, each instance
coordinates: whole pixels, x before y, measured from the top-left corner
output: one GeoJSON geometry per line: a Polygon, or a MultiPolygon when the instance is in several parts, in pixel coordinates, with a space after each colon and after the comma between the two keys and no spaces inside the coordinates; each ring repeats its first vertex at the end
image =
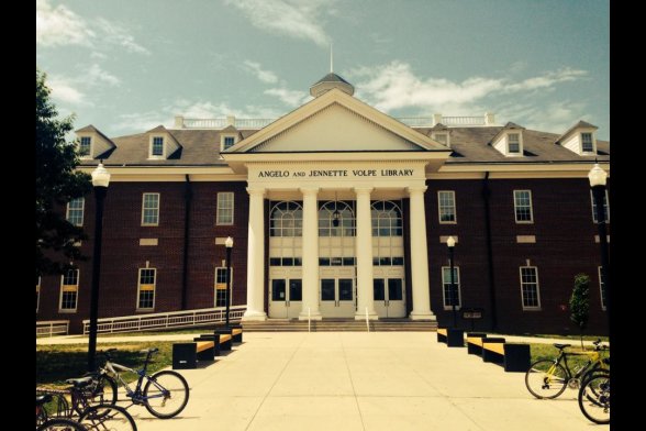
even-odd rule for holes
{"type": "Polygon", "coordinates": [[[357,313],[355,319],[377,320],[372,288],[372,220],[370,217],[372,187],[355,187],[357,195],[357,313]]]}

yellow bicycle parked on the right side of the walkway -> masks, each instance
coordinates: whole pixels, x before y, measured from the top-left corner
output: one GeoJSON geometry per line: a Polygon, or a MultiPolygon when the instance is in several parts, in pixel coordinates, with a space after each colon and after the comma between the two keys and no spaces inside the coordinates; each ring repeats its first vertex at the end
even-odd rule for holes
{"type": "Polygon", "coordinates": [[[606,345],[600,345],[601,340],[593,342],[593,351],[566,352],[565,349],[571,344],[554,343],[558,349],[558,356],[555,360],[536,361],[525,373],[525,386],[530,394],[538,399],[554,399],[561,395],[566,387],[577,389],[584,384],[590,376],[590,372],[606,368],[606,364],[601,357],[601,351],[608,349],[606,345]],[[588,362],[581,367],[570,369],[568,357],[588,356],[588,362]]]}

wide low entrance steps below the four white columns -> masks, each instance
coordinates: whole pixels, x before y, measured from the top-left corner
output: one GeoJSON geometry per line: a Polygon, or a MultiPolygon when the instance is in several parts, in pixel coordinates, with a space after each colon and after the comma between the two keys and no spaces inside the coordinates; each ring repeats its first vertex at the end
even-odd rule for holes
{"type": "MultiPolygon", "coordinates": [[[[409,319],[370,320],[370,331],[414,331],[428,332],[437,330],[437,322],[409,319]]],[[[308,321],[298,319],[267,319],[264,322],[242,322],[245,332],[308,332],[308,321]]],[[[323,319],[312,320],[312,332],[354,331],[366,332],[365,320],[323,319]]]]}

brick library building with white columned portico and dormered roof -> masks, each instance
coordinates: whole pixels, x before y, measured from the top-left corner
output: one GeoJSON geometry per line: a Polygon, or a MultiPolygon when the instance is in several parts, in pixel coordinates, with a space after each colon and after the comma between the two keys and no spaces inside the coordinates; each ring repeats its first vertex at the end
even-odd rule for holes
{"type": "MultiPolygon", "coordinates": [[[[464,328],[578,333],[569,299],[583,273],[588,331],[608,332],[588,173],[595,159],[610,173],[610,143],[597,126],[541,132],[490,113],[396,119],[334,73],[310,92],[279,119],[76,132],[79,169],[102,161],[111,174],[100,319],[224,307],[231,236],[231,305],[244,308],[243,323],[450,325],[455,305],[464,328]],[[463,320],[468,309],[481,319],[463,320]]],[[[603,206],[610,222],[608,194],[603,206]]],[[[36,320],[68,320],[71,333],[89,317],[94,208],[92,194],[63,208],[90,236],[80,244],[89,258],[36,279],[36,320]]]]}

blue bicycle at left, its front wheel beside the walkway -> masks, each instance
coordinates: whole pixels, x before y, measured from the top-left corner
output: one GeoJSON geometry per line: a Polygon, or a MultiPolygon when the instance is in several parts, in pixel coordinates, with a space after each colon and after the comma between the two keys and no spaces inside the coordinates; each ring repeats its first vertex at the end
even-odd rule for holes
{"type": "Polygon", "coordinates": [[[169,369],[153,375],[146,373],[148,364],[152,362],[153,355],[159,351],[158,349],[142,351],[142,353],[146,353],[142,369],[130,368],[113,362],[110,354],[115,351],[116,349],[109,349],[100,352],[105,356],[105,364],[99,368],[98,373],[90,375],[96,388],[94,396],[109,399],[111,404],[116,402],[116,382],[119,382],[125,389],[126,397],[131,399],[131,406],[143,405],[159,419],[172,418],[183,410],[189,399],[189,387],[181,374],[169,369]],[[138,376],[134,389],[121,377],[120,371],[135,373],[138,376]],[[144,380],[146,380],[145,386],[144,380]]]}

